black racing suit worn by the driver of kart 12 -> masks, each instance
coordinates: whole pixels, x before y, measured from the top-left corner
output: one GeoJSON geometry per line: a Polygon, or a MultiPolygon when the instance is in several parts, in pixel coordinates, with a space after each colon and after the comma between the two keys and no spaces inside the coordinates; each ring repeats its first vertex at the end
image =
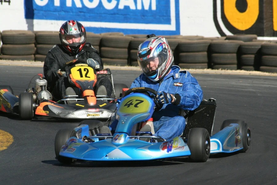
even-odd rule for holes
{"type": "MultiPolygon", "coordinates": [[[[61,44],[57,44],[47,53],[43,66],[44,76],[48,83],[48,90],[52,92],[53,99],[56,101],[61,100],[66,96],[67,87],[74,88],[74,86],[70,84],[67,77],[59,78],[56,72],[61,69],[66,62],[76,58],[81,60],[87,60],[89,58],[94,59],[100,66],[100,68],[96,69],[96,71],[103,69],[103,62],[100,58],[99,52],[94,49],[90,43],[86,43],[78,55],[70,55],[70,53],[68,53],[61,44]]],[[[107,96],[111,97],[112,84],[110,80],[106,77],[98,78],[94,86],[95,92],[97,92],[100,85],[104,85],[106,87],[107,96]]],[[[76,88],[74,88],[74,90],[76,92],[76,88]]],[[[80,94],[77,93],[77,95],[80,94]]]]}

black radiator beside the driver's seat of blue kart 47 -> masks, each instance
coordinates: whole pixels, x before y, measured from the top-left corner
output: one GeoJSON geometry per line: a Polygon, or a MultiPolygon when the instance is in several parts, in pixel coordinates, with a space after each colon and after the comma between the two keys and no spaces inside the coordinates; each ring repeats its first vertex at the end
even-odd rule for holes
{"type": "Polygon", "coordinates": [[[183,136],[187,138],[188,133],[192,128],[207,129],[211,136],[215,120],[215,111],[215,101],[202,101],[197,109],[190,111],[185,116],[185,118],[187,117],[187,125],[183,136]]]}

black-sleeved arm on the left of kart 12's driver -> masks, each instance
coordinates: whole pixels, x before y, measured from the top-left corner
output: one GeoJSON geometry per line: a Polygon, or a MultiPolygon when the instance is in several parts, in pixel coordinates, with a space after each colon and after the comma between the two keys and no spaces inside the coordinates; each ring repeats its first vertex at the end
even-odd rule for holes
{"type": "Polygon", "coordinates": [[[49,51],[44,60],[43,73],[44,73],[45,79],[50,84],[50,86],[54,86],[55,82],[59,79],[56,72],[60,68],[61,66],[57,58],[53,55],[52,52],[49,51]]]}

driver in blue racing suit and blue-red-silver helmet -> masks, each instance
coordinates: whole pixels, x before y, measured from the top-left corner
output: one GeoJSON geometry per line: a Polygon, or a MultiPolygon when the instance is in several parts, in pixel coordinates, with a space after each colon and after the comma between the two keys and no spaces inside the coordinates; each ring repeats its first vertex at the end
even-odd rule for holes
{"type": "MultiPolygon", "coordinates": [[[[203,99],[203,91],[188,71],[172,65],[174,58],[167,39],[150,36],[139,45],[138,62],[143,73],[130,88],[148,87],[158,92],[156,99],[162,108],[152,116],[154,135],[170,140],[180,136],[186,126],[185,118],[179,116],[180,109],[196,109],[203,99]]],[[[112,128],[116,121],[111,124],[112,128]]]]}

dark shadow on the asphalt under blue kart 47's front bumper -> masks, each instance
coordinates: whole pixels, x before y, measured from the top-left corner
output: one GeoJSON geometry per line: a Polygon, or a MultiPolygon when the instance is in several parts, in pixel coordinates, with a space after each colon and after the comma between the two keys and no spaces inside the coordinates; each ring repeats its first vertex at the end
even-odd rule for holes
{"type": "Polygon", "coordinates": [[[42,163],[59,167],[153,167],[185,164],[187,162],[190,162],[187,157],[149,161],[76,161],[73,164],[62,164],[58,160],[42,161],[42,163]]]}

